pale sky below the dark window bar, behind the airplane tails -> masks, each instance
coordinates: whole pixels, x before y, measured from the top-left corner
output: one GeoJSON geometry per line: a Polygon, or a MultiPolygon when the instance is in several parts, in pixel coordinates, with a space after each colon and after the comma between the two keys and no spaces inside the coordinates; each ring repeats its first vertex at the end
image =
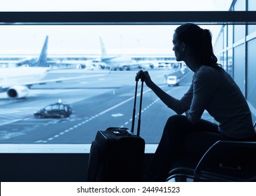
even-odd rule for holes
{"type": "MultiPolygon", "coordinates": [[[[177,25],[0,25],[0,57],[36,55],[48,35],[49,55],[169,54],[177,25]]],[[[202,28],[205,25],[200,25],[202,28]]],[[[211,25],[211,28],[216,27],[211,25]]],[[[218,26],[220,27],[220,26],[218,26]]],[[[218,31],[213,33],[218,35],[218,31]]]]}

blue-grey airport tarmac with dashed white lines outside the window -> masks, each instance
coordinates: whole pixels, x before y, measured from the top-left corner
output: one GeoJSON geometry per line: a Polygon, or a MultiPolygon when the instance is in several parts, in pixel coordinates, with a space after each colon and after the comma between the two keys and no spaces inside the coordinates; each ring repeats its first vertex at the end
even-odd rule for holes
{"type": "MultiPolygon", "coordinates": [[[[150,71],[152,80],[177,99],[189,87],[191,76],[178,87],[168,87],[166,71],[150,71]]],[[[52,73],[49,77],[80,73],[52,73]]],[[[99,78],[34,85],[26,99],[0,99],[1,143],[90,143],[97,130],[131,127],[136,71],[113,71],[99,78]],[[71,104],[69,118],[34,118],[33,113],[62,99],[71,104]],[[2,104],[5,102],[5,104],[2,104]]],[[[140,83],[138,85],[138,95],[140,83]]],[[[141,136],[148,143],[158,142],[164,124],[174,114],[144,85],[141,136]]],[[[136,112],[138,113],[138,104],[136,112]]],[[[207,116],[206,116],[207,117],[207,116]]],[[[136,117],[137,120],[137,117],[136,117]]],[[[135,126],[136,130],[136,126],[135,126]]]]}

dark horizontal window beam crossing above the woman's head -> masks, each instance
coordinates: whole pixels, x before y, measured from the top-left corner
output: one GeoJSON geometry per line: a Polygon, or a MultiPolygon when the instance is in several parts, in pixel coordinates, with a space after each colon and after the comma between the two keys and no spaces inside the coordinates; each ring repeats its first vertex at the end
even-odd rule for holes
{"type": "Polygon", "coordinates": [[[256,24],[256,11],[0,12],[0,25],[256,24]]]}

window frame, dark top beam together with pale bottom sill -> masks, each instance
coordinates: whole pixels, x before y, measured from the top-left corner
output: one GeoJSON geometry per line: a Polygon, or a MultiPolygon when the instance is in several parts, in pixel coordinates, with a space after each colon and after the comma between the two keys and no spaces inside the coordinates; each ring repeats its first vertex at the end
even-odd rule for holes
{"type": "MultiPolygon", "coordinates": [[[[1,12],[0,25],[256,25],[256,11],[1,12]]],[[[0,153],[89,153],[91,144],[0,144],[0,153]]],[[[146,144],[154,153],[157,144],[146,144]]]]}

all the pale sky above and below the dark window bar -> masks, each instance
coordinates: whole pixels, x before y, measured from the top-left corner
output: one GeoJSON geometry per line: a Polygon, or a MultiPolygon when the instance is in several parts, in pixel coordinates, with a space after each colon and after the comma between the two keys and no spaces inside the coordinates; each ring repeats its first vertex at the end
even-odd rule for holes
{"type": "MultiPolygon", "coordinates": [[[[69,10],[228,10],[232,0],[0,0],[0,11],[69,10]],[[221,2],[221,3],[220,3],[221,2]]],[[[172,52],[176,25],[0,25],[0,57],[7,54],[36,55],[45,36],[48,54],[100,53],[99,36],[110,54],[172,52]]],[[[210,29],[217,36],[216,26],[210,29]],[[213,29],[215,28],[215,29],[213,29]]],[[[219,27],[217,28],[219,29],[219,27]]],[[[213,37],[214,39],[214,37],[213,37]]]]}

